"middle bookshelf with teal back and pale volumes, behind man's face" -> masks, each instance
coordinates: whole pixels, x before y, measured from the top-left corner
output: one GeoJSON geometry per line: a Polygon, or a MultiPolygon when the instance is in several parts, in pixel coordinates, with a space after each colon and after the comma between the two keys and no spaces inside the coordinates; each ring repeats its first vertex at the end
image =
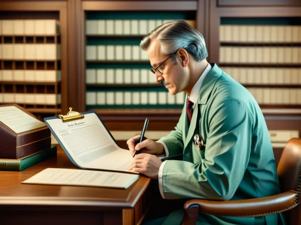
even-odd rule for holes
{"type": "Polygon", "coordinates": [[[135,112],[144,116],[143,110],[151,118],[175,118],[177,112],[177,120],[185,95],[169,96],[166,88],[155,83],[139,43],[157,26],[176,19],[197,28],[196,3],[157,1],[154,9],[151,1],[83,1],[85,109],[111,110],[105,118],[119,117],[117,111],[122,111],[130,119],[137,118],[135,112]],[[160,110],[165,114],[158,114],[160,110]]]}

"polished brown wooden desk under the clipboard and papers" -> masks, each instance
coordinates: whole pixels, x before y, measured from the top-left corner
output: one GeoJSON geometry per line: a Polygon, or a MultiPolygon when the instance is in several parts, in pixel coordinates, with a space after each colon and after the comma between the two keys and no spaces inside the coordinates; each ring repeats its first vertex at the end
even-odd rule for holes
{"type": "Polygon", "coordinates": [[[1,224],[139,224],[151,205],[151,179],[126,190],[21,184],[48,167],[77,168],[58,147],[57,156],[21,172],[0,171],[1,224]]]}

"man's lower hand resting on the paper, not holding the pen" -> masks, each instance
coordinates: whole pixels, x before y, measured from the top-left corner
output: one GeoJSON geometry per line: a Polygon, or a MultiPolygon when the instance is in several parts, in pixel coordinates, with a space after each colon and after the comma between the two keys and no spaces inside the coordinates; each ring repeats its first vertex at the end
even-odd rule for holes
{"type": "Polygon", "coordinates": [[[158,179],[159,168],[162,161],[155,155],[140,153],[135,155],[129,170],[142,173],[152,179],[158,179]]]}

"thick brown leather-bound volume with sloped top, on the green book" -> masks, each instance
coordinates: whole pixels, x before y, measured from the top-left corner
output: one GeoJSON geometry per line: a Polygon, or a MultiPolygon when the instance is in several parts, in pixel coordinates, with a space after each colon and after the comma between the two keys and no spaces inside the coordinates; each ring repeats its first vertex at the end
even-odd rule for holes
{"type": "Polygon", "coordinates": [[[17,104],[0,105],[0,158],[19,159],[50,147],[44,122],[17,104]]]}

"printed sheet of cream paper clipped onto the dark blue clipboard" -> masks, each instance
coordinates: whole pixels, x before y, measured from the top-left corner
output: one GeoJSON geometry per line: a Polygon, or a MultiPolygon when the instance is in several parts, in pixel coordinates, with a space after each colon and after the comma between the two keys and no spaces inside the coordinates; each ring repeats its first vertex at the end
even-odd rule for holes
{"type": "Polygon", "coordinates": [[[82,168],[127,170],[134,160],[129,150],[117,146],[95,113],[65,123],[61,119],[47,122],[74,162],[82,168]]]}

